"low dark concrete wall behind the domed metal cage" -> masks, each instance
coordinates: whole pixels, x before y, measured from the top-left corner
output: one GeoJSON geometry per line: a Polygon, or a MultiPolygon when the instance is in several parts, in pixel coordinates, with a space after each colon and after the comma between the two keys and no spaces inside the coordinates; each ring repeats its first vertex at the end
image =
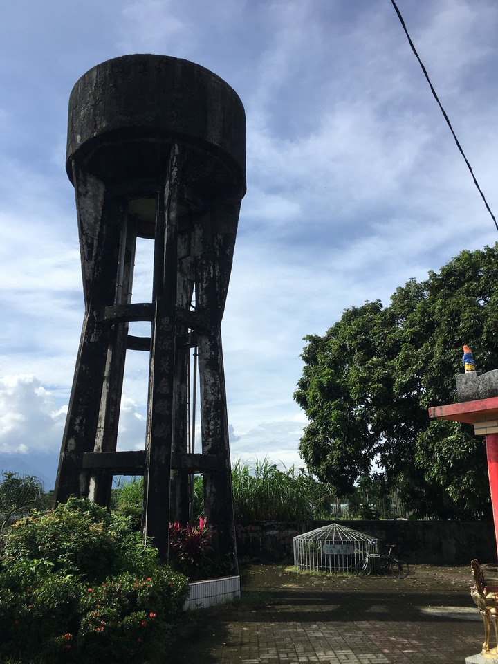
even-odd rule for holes
{"type": "MultiPolygon", "coordinates": [[[[331,522],[314,522],[307,531],[331,522]]],[[[462,565],[472,558],[496,562],[492,522],[474,521],[338,521],[337,523],[379,540],[398,544],[399,556],[409,564],[462,565]]],[[[237,524],[240,560],[293,564],[293,538],[306,531],[295,523],[237,524]]]]}

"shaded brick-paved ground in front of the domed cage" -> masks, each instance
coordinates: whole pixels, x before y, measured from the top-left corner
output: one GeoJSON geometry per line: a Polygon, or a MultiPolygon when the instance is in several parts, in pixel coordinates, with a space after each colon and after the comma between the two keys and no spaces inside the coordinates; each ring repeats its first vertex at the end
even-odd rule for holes
{"type": "Polygon", "coordinates": [[[359,580],[254,566],[241,605],[192,612],[165,661],[464,664],[483,638],[469,585],[465,568],[359,580]]]}

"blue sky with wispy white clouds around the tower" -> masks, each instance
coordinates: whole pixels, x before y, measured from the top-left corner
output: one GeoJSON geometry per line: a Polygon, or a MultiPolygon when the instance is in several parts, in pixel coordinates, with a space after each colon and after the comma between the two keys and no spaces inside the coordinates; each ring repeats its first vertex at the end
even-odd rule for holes
{"type": "MultiPolygon", "coordinates": [[[[398,6],[497,214],[498,5],[398,6]]],[[[55,477],[83,316],[68,95],[127,53],[201,64],[246,108],[222,328],[232,458],[300,466],[304,335],[498,239],[390,0],[2,3],[0,469],[55,477]]],[[[130,366],[121,449],[143,445],[145,382],[130,366]]]]}

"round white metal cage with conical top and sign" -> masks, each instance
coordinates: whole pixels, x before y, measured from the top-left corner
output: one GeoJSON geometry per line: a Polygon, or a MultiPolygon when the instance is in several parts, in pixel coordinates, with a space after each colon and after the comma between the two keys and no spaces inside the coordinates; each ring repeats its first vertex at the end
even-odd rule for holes
{"type": "Polygon", "coordinates": [[[371,553],[378,553],[378,542],[369,535],[339,524],[322,526],[294,537],[294,566],[303,572],[351,572],[365,557],[369,542],[371,553]]]}

